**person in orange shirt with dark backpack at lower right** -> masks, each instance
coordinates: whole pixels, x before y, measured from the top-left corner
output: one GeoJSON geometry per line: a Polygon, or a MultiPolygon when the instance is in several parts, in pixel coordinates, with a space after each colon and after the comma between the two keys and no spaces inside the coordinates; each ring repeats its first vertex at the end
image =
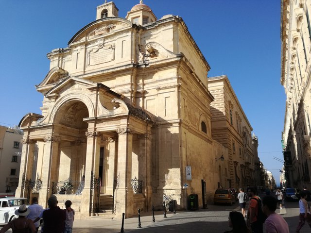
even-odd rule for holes
{"type": "Polygon", "coordinates": [[[253,187],[248,188],[248,196],[250,197],[246,223],[247,226],[252,230],[252,233],[263,233],[263,223],[267,216],[262,213],[261,200],[256,195],[256,189],[253,187]]]}

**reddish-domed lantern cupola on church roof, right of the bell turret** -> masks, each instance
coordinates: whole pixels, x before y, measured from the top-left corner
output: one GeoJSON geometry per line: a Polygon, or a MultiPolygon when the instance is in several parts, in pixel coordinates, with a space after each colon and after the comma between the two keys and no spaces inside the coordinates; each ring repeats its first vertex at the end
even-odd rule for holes
{"type": "Polygon", "coordinates": [[[133,6],[129,12],[127,12],[125,18],[137,25],[151,23],[157,19],[150,7],[143,4],[142,0],[139,1],[139,4],[133,6]]]}

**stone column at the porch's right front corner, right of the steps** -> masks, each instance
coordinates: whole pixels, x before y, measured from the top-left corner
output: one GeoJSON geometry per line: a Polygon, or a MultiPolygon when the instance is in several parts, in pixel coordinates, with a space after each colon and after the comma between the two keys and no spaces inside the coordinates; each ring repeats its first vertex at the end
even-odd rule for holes
{"type": "Polygon", "coordinates": [[[133,132],[130,128],[122,128],[117,129],[117,133],[119,188],[115,195],[116,217],[121,218],[122,213],[125,213],[125,217],[128,218],[134,215],[134,194],[131,187],[133,132]]]}

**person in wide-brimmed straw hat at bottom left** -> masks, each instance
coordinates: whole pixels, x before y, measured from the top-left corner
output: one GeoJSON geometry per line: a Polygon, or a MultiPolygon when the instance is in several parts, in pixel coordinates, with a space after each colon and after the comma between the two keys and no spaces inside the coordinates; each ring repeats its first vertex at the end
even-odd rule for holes
{"type": "Polygon", "coordinates": [[[12,228],[13,233],[35,233],[36,229],[34,222],[31,219],[26,218],[29,213],[30,210],[27,208],[26,205],[19,206],[18,210],[15,211],[15,215],[17,215],[18,218],[6,224],[0,230],[0,233],[4,233],[10,228],[12,228]]]}

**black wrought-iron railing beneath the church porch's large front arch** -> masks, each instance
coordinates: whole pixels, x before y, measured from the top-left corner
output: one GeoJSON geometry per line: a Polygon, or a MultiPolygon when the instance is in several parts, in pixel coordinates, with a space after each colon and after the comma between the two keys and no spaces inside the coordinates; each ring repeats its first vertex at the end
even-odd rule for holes
{"type": "Polygon", "coordinates": [[[70,178],[52,185],[52,194],[81,194],[84,189],[84,181],[72,181],[70,178]]]}

